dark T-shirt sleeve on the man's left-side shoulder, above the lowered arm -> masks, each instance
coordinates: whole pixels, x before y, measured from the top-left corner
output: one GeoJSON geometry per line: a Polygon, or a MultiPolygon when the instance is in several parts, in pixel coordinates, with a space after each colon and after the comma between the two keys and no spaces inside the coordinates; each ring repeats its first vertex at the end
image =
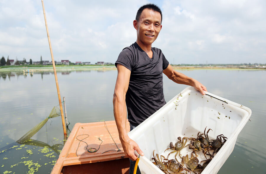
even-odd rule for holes
{"type": "Polygon", "coordinates": [[[128,48],[124,48],[119,54],[115,65],[117,67],[117,64],[121,64],[131,71],[133,67],[133,59],[132,51],[128,48]]]}

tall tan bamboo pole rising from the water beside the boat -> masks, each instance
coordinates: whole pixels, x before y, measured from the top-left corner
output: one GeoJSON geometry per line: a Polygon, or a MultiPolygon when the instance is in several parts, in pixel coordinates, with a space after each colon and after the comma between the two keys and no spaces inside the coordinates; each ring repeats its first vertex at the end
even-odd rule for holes
{"type": "MultiPolygon", "coordinates": [[[[43,4],[43,0],[42,0],[42,4],[43,4]]],[[[49,31],[48,31],[48,26],[47,26],[47,22],[46,22],[44,4],[43,4],[43,15],[44,15],[45,26],[46,26],[46,31],[47,31],[47,37],[48,37],[48,42],[49,42],[50,52],[51,52],[51,57],[52,57],[52,62],[53,62],[53,72],[54,72],[54,78],[55,78],[55,81],[56,81],[56,89],[57,89],[58,100],[59,100],[59,105],[60,105],[63,130],[64,130],[64,134],[67,134],[66,124],[65,124],[65,119],[64,119],[64,113],[63,113],[63,107],[62,107],[62,103],[61,103],[61,96],[60,96],[60,91],[59,91],[59,85],[58,85],[58,80],[57,80],[57,75],[56,75],[56,68],[55,68],[55,63],[54,63],[54,59],[53,59],[53,51],[52,51],[52,46],[51,46],[51,41],[50,41],[50,36],[49,36],[49,31]]]]}

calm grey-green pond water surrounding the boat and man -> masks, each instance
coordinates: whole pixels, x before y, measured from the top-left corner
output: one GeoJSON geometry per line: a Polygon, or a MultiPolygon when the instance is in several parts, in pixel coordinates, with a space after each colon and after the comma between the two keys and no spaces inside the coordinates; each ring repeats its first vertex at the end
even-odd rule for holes
{"type": "MultiPolygon", "coordinates": [[[[197,79],[220,97],[252,110],[240,132],[234,150],[219,174],[265,173],[266,165],[266,71],[178,70],[197,79]]],[[[57,72],[61,97],[66,98],[70,122],[109,121],[113,118],[113,90],[116,70],[57,72]]],[[[186,85],[175,84],[164,75],[166,102],[186,85]]],[[[51,118],[32,141],[18,144],[27,131],[43,121],[58,97],[52,72],[0,71],[0,173],[50,173],[64,145],[61,117],[51,118]]]]}

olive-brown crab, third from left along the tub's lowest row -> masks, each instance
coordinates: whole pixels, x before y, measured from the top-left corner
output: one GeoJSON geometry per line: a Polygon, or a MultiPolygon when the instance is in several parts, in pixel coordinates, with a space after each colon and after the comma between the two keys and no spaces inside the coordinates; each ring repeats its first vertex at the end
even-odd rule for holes
{"type": "Polygon", "coordinates": [[[198,174],[202,172],[202,165],[199,164],[199,160],[197,157],[193,156],[193,152],[191,153],[191,158],[189,159],[188,155],[182,157],[182,164],[186,163],[186,167],[189,170],[192,170],[193,173],[198,174]]]}

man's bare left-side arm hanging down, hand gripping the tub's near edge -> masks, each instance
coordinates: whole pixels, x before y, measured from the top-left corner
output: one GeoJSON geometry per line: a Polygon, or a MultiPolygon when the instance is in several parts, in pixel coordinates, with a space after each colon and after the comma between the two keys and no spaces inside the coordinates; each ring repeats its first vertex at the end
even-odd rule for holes
{"type": "Polygon", "coordinates": [[[126,92],[131,71],[121,64],[117,64],[117,71],[116,86],[113,94],[113,115],[125,155],[135,161],[137,157],[134,155],[134,150],[140,155],[144,154],[137,143],[130,139],[126,132],[126,92]]]}

